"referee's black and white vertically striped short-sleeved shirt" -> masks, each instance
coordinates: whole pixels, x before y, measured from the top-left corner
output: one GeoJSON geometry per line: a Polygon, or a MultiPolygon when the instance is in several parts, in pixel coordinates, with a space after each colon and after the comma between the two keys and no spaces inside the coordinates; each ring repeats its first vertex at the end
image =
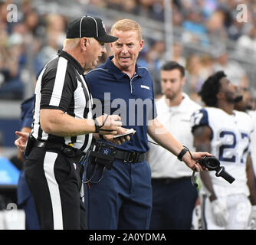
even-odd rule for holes
{"type": "Polygon", "coordinates": [[[92,98],[84,70],[70,54],[60,51],[41,71],[35,87],[32,135],[35,139],[61,144],[72,143],[86,152],[93,134],[60,137],[47,134],[40,126],[40,109],[61,109],[78,119],[92,118],[92,98]]]}

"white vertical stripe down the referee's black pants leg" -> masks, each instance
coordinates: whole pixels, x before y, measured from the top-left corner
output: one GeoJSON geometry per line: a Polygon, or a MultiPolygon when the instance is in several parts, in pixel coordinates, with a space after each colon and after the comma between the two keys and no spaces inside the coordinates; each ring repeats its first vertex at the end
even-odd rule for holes
{"type": "Polygon", "coordinates": [[[61,195],[59,186],[54,175],[54,164],[57,153],[46,152],[44,156],[44,175],[48,182],[48,188],[51,196],[52,213],[54,219],[54,230],[63,230],[61,195]]]}

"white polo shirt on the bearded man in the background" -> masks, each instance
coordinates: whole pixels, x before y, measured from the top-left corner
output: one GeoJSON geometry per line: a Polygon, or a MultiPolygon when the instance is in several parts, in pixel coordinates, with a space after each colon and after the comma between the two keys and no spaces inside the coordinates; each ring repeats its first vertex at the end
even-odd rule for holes
{"type": "MultiPolygon", "coordinates": [[[[191,152],[194,152],[190,119],[192,113],[200,109],[201,106],[190,100],[187,94],[182,94],[184,98],[179,106],[168,106],[166,96],[156,100],[157,118],[175,139],[188,147],[191,152]]],[[[153,141],[150,137],[149,140],[153,141]]],[[[162,146],[153,145],[150,142],[149,147],[147,160],[151,168],[152,178],[181,178],[192,175],[191,169],[184,162],[180,162],[176,155],[162,146]]]]}

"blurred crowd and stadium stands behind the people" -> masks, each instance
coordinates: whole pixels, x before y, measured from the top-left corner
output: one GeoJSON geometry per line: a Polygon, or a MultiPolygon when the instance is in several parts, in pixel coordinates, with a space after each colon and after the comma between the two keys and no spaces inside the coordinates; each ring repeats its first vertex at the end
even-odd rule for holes
{"type": "Polygon", "coordinates": [[[102,18],[107,31],[120,18],[139,22],[146,41],[139,64],[152,74],[156,96],[161,93],[159,67],[165,60],[186,67],[185,91],[199,103],[203,81],[220,69],[232,82],[250,87],[255,96],[254,0],[0,1],[0,13],[0,147],[13,161],[21,101],[32,96],[36,74],[62,47],[67,22],[82,15],[102,18]],[[18,11],[14,22],[8,21],[11,4],[18,11]]]}

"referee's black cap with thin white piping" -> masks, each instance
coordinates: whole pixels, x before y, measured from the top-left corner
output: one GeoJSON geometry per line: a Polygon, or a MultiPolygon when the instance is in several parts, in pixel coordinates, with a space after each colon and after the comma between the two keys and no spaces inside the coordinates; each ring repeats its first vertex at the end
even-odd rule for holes
{"type": "Polygon", "coordinates": [[[67,24],[67,38],[95,38],[97,41],[112,43],[117,37],[107,34],[103,21],[100,18],[85,15],[76,18],[67,24]]]}

